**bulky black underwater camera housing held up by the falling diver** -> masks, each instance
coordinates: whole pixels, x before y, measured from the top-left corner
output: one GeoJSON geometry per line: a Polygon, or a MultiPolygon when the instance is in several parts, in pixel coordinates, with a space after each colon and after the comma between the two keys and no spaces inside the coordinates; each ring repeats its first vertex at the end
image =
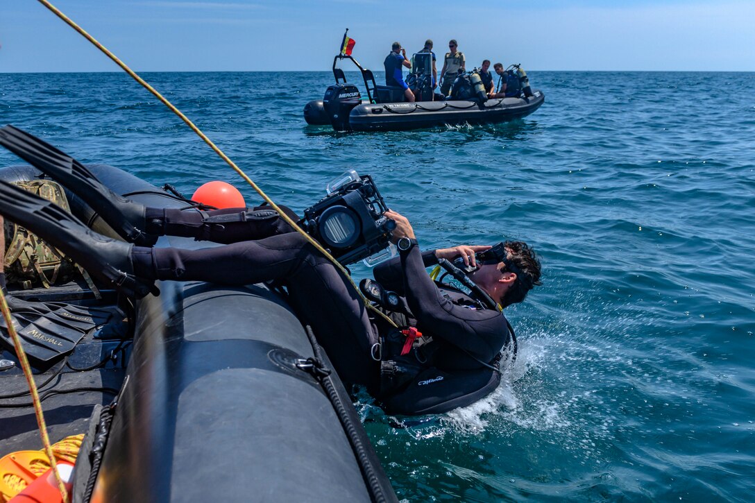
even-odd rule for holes
{"type": "Polygon", "coordinates": [[[344,266],[365,258],[379,261],[375,255],[388,248],[396,229],[383,215],[387,209],[372,177],[352,169],[328,184],[328,196],[304,210],[298,224],[344,266]]]}

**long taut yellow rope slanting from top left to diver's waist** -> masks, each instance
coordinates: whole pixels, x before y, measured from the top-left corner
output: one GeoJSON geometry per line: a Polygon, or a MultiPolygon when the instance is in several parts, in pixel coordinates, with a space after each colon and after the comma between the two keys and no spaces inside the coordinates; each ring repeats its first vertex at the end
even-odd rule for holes
{"type": "Polygon", "coordinates": [[[56,7],[54,7],[54,5],[52,5],[50,2],[48,2],[48,0],[38,0],[38,1],[42,5],[45,5],[45,7],[48,8],[50,11],[52,11],[57,17],[60,17],[61,20],[65,21],[66,24],[68,24],[73,29],[75,29],[77,32],[79,32],[85,39],[87,39],[89,42],[91,42],[96,48],[100,49],[100,51],[102,51],[107,57],[109,57],[118,66],[120,66],[125,71],[125,73],[128,73],[128,75],[130,75],[134,80],[136,80],[137,82],[139,82],[143,86],[143,88],[145,88],[147,91],[149,91],[150,93],[152,93],[158,100],[162,101],[162,103],[165,106],[167,106],[168,109],[170,109],[173,113],[175,113],[177,116],[179,116],[180,119],[183,122],[186,122],[186,125],[188,125],[192,129],[192,131],[194,131],[197,135],[199,135],[199,137],[202,138],[202,140],[204,140],[205,143],[207,143],[208,146],[212,150],[214,150],[215,153],[217,153],[218,156],[220,156],[220,159],[223,159],[223,161],[225,161],[227,163],[227,165],[229,165],[231,168],[233,168],[233,171],[236,171],[236,173],[238,173],[239,176],[242,177],[244,179],[244,181],[246,181],[247,184],[251,185],[251,188],[253,188],[255,191],[257,191],[257,193],[260,196],[262,196],[262,199],[264,199],[265,202],[267,202],[267,204],[269,204],[275,211],[278,211],[278,214],[281,216],[281,218],[287,224],[291,225],[291,227],[293,227],[294,230],[296,230],[298,233],[300,233],[302,236],[304,236],[307,239],[307,241],[309,241],[315,248],[317,248],[319,250],[319,252],[322,253],[322,255],[325,255],[325,257],[328,258],[328,260],[330,260],[334,264],[334,266],[337,267],[338,270],[341,270],[341,273],[344,273],[344,276],[346,276],[346,278],[349,280],[349,282],[351,283],[351,285],[356,290],[357,295],[359,295],[359,297],[362,298],[362,302],[364,302],[365,306],[368,309],[373,310],[374,313],[377,313],[379,316],[382,316],[384,319],[387,320],[387,322],[390,322],[391,325],[393,325],[394,327],[396,327],[396,324],[388,316],[386,316],[384,313],[381,313],[379,310],[375,309],[370,304],[370,302],[367,300],[367,298],[365,298],[365,296],[362,295],[362,292],[359,291],[359,287],[357,287],[356,283],[353,281],[353,279],[351,279],[349,271],[347,271],[344,266],[342,266],[341,264],[339,264],[338,261],[335,260],[335,258],[333,258],[333,256],[330,255],[325,250],[325,248],[322,248],[322,246],[319,244],[319,242],[317,242],[309,234],[305,233],[304,230],[302,230],[296,224],[296,222],[294,222],[293,220],[291,220],[291,218],[289,218],[288,215],[285,214],[285,212],[281,211],[281,209],[278,207],[278,205],[276,205],[276,203],[273,202],[273,199],[270,199],[270,197],[268,197],[267,194],[264,193],[262,189],[260,189],[260,187],[257,187],[257,184],[255,184],[254,181],[252,181],[251,178],[248,177],[247,174],[245,174],[245,172],[242,171],[242,169],[239,168],[239,166],[236,165],[235,162],[233,162],[225,153],[223,153],[223,151],[220,150],[220,148],[218,148],[217,145],[215,145],[215,143],[213,143],[212,140],[210,140],[210,138],[207,137],[207,135],[205,133],[203,133],[198,127],[196,127],[196,125],[194,125],[194,123],[191,122],[191,120],[188,117],[186,117],[185,115],[183,115],[183,113],[180,110],[178,110],[176,108],[176,106],[173,105],[173,103],[171,103],[170,101],[168,101],[168,99],[166,97],[162,96],[162,94],[160,94],[155,88],[153,88],[144,79],[142,79],[140,76],[138,76],[136,73],[134,73],[134,71],[131,68],[129,68],[126,65],[126,63],[123,63],[121,60],[119,60],[119,58],[116,57],[115,54],[112,54],[112,52],[110,52],[105,46],[103,46],[102,44],[100,44],[100,42],[97,42],[97,40],[94,39],[94,37],[92,35],[89,35],[89,33],[86,32],[81,26],[79,26],[78,24],[74,23],[71,19],[69,19],[69,17],[66,16],[66,14],[63,14],[56,7]]]}

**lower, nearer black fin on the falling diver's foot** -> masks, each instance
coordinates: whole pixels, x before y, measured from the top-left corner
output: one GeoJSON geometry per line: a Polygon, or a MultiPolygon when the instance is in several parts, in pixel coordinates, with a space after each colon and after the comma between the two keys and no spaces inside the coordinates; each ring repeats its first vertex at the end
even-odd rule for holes
{"type": "Polygon", "coordinates": [[[159,294],[153,281],[134,276],[132,245],[92,232],[53,202],[0,181],[0,214],[50,242],[92,276],[125,295],[159,294]]]}

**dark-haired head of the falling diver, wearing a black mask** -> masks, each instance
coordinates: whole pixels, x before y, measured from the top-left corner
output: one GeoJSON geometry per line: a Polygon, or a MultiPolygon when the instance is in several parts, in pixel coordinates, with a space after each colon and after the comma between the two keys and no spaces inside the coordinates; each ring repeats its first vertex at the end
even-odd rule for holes
{"type": "Polygon", "coordinates": [[[521,241],[499,242],[478,253],[479,268],[470,278],[502,307],[521,302],[541,285],[541,265],[535,250],[521,241]]]}

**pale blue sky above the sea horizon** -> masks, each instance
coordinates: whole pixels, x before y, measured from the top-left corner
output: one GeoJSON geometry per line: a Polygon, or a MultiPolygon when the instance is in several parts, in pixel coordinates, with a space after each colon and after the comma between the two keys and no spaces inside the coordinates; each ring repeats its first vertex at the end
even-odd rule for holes
{"type": "MultiPolygon", "coordinates": [[[[394,40],[532,70],[755,71],[753,0],[55,0],[138,71],[328,70],[344,33],[372,69],[394,40]]],[[[0,0],[0,73],[118,70],[35,0],[0,0]]]]}

